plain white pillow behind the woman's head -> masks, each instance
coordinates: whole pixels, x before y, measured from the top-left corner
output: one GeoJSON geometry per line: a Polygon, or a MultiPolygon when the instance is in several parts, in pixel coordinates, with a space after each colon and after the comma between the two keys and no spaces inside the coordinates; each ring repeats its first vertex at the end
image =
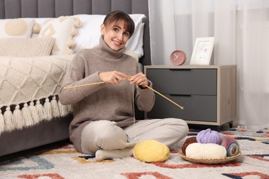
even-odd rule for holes
{"type": "MultiPolygon", "coordinates": [[[[79,14],[79,17],[83,23],[83,27],[77,30],[77,36],[74,36],[74,41],[77,44],[74,48],[74,52],[79,52],[84,48],[93,48],[99,44],[99,38],[101,36],[101,24],[106,15],[89,15],[79,14]]],[[[142,20],[145,17],[144,14],[130,14],[130,17],[135,22],[135,32],[126,44],[126,50],[135,52],[139,58],[143,56],[143,23],[142,20]]]]}

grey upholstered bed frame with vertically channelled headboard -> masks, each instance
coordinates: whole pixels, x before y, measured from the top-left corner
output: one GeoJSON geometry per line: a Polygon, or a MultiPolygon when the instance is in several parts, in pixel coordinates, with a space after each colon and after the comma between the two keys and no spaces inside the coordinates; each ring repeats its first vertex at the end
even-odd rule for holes
{"type": "MultiPolygon", "coordinates": [[[[0,0],[0,19],[20,17],[60,17],[74,14],[108,14],[123,10],[128,14],[145,14],[142,65],[151,65],[148,0],[0,0]]],[[[137,115],[137,114],[136,114],[137,115]]],[[[143,116],[140,113],[138,116],[143,116]]],[[[0,156],[32,149],[69,138],[68,127],[72,115],[42,122],[22,130],[0,136],[0,156]]]]}

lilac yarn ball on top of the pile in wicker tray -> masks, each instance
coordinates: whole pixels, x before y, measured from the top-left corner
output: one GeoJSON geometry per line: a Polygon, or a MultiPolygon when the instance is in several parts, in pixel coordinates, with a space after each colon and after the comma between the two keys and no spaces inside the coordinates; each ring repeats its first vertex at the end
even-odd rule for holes
{"type": "Polygon", "coordinates": [[[199,131],[199,133],[197,134],[197,142],[203,144],[207,143],[221,144],[221,136],[217,131],[206,129],[199,131]]]}

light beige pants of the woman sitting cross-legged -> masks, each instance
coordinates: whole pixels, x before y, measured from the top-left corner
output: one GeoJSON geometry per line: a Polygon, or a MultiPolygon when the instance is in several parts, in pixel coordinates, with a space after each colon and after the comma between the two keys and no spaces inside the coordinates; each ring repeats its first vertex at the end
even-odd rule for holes
{"type": "Polygon", "coordinates": [[[81,134],[81,150],[84,154],[132,148],[143,140],[157,140],[168,147],[178,143],[188,134],[188,125],[179,118],[139,120],[121,129],[109,120],[94,121],[84,127],[81,134]]]}

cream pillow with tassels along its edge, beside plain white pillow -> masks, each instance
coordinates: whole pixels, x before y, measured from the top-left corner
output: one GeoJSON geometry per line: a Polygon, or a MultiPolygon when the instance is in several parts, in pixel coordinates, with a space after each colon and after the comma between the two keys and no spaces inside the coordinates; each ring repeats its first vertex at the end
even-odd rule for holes
{"type": "Polygon", "coordinates": [[[73,54],[71,48],[74,48],[76,44],[72,38],[77,35],[76,28],[81,27],[79,19],[74,16],[61,16],[56,19],[48,19],[44,23],[39,37],[53,37],[55,39],[52,54],[73,54]]]}

